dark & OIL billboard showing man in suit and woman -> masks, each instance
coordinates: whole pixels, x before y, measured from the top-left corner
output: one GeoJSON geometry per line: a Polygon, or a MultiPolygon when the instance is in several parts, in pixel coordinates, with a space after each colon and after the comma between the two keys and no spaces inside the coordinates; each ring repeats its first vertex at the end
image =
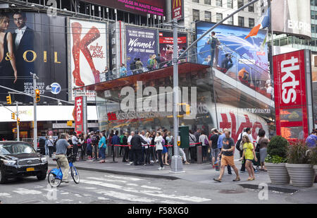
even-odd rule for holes
{"type": "MultiPolygon", "coordinates": [[[[0,85],[34,95],[36,73],[40,95],[67,100],[66,18],[46,13],[16,12],[0,16],[4,55],[0,62],[0,85]],[[11,54],[14,54],[11,55],[11,54]]],[[[8,90],[1,89],[1,101],[8,90]]],[[[11,95],[14,101],[30,103],[32,97],[11,95]]],[[[42,97],[41,102],[51,102],[42,97]]]]}

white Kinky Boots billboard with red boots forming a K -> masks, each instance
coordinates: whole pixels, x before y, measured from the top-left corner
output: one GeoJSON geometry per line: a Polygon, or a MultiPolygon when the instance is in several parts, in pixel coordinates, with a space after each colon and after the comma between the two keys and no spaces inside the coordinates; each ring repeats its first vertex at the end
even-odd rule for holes
{"type": "MultiPolygon", "coordinates": [[[[106,23],[69,18],[68,75],[72,101],[74,88],[101,82],[99,74],[108,66],[107,32],[106,23]]],[[[89,96],[87,100],[94,101],[89,96]]]]}

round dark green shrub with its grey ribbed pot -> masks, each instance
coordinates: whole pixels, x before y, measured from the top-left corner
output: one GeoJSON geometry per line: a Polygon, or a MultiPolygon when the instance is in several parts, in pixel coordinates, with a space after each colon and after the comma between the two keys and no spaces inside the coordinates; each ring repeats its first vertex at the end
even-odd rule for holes
{"type": "Polygon", "coordinates": [[[282,136],[274,136],[268,143],[268,156],[266,157],[266,169],[272,183],[288,184],[288,175],[285,163],[287,161],[287,147],[290,145],[282,136]]]}

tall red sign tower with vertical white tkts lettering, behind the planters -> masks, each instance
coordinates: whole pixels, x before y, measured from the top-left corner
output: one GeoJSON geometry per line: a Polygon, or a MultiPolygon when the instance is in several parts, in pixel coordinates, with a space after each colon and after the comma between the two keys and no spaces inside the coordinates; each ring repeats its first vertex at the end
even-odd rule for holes
{"type": "Polygon", "coordinates": [[[313,129],[311,54],[307,49],[273,56],[276,133],[305,139],[313,129]]]}

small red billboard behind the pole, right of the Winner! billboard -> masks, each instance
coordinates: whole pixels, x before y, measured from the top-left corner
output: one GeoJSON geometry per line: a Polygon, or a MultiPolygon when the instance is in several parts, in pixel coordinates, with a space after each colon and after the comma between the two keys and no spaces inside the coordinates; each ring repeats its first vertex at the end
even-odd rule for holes
{"type": "MultiPolygon", "coordinates": [[[[187,48],[187,34],[178,33],[178,52],[182,47],[187,48]]],[[[166,63],[172,63],[173,59],[173,32],[159,31],[159,52],[166,63]]]]}

